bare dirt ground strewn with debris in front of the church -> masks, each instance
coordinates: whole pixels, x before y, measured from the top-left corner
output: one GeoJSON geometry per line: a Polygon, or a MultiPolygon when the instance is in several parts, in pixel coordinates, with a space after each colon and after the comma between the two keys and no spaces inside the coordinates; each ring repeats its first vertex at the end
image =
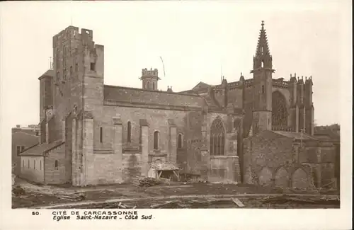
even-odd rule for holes
{"type": "MultiPolygon", "coordinates": [[[[297,195],[337,195],[338,191],[335,190],[293,190],[261,187],[256,185],[234,185],[234,184],[212,184],[212,183],[170,183],[169,185],[155,185],[152,187],[138,187],[132,184],[118,184],[118,185],[102,185],[91,186],[86,188],[75,188],[70,186],[51,186],[51,185],[35,185],[28,183],[25,180],[19,179],[16,181],[16,186],[23,188],[24,194],[13,195],[12,204],[13,208],[21,207],[38,207],[42,205],[53,204],[69,204],[81,201],[93,201],[93,204],[83,208],[116,208],[115,205],[105,205],[102,202],[94,205],[94,202],[104,200],[117,199],[117,198],[131,198],[132,200],[125,202],[127,207],[136,208],[150,208],[152,204],[156,204],[154,197],[164,197],[160,199],[162,202],[161,208],[212,208],[212,207],[235,207],[235,203],[231,199],[226,200],[203,200],[203,198],[195,199],[176,199],[173,198],[172,202],[169,197],[171,196],[186,196],[186,195],[238,195],[241,196],[240,200],[244,202],[246,207],[257,208],[289,208],[289,207],[302,207],[302,208],[335,208],[339,207],[338,202],[327,202],[325,200],[306,201],[302,200],[289,200],[280,199],[271,201],[264,201],[264,195],[276,194],[297,194],[297,195]],[[243,195],[263,195],[260,197],[242,197],[243,195]],[[200,200],[201,199],[201,200],[200,200]],[[171,202],[171,203],[169,203],[171,202]]],[[[307,198],[309,200],[309,198],[307,198]]],[[[157,202],[157,203],[159,203],[157,202]]]]}

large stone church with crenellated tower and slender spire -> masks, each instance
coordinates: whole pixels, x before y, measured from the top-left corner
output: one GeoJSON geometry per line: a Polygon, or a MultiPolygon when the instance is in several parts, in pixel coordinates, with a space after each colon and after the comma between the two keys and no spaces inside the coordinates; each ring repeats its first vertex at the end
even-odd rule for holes
{"type": "Polygon", "coordinates": [[[92,30],[69,26],[53,37],[52,48],[53,68],[39,78],[40,144],[21,154],[24,178],[123,183],[148,176],[154,166],[169,178],[178,168],[176,180],[321,183],[321,171],[313,173],[318,163],[295,157],[304,152],[299,136],[321,152],[313,137],[312,77],[273,79],[263,22],[251,79],[241,74],[239,81],[200,82],[183,92],[161,90],[157,69],[142,69],[142,88],[105,85],[104,47],[92,30]]]}

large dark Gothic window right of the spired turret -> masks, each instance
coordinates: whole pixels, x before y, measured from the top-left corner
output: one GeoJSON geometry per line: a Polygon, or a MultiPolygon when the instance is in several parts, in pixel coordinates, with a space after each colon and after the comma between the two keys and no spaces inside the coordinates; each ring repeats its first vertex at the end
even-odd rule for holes
{"type": "Polygon", "coordinates": [[[279,91],[272,93],[272,125],[287,126],[287,103],[279,91]]]}

